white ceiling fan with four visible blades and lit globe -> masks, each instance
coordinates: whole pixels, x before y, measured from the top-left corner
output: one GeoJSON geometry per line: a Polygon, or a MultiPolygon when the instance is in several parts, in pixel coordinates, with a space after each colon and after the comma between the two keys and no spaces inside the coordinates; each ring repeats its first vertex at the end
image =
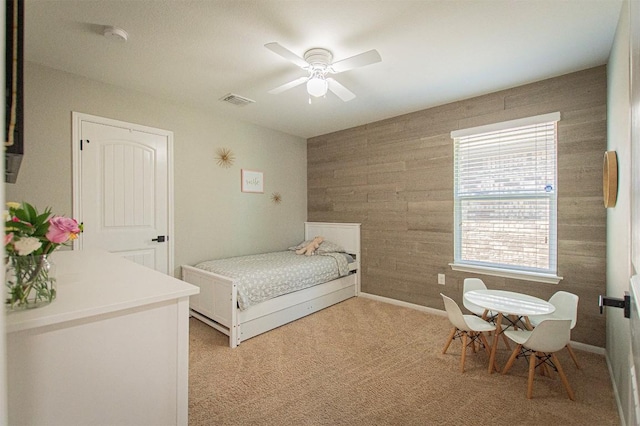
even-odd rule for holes
{"type": "MultiPolygon", "coordinates": [[[[327,75],[338,74],[354,68],[364,67],[382,60],[380,54],[375,49],[337,62],[332,62],[333,54],[329,50],[320,47],[307,50],[304,53],[304,59],[276,42],[267,43],[264,47],[282,56],[288,61],[293,62],[309,73],[308,76],[300,77],[296,80],[290,81],[289,83],[285,83],[282,86],[278,86],[275,89],[270,90],[269,93],[282,93],[285,90],[307,83],[307,92],[310,96],[325,96],[327,94],[327,90],[331,90],[344,102],[350,101],[355,98],[356,95],[342,84],[338,83],[335,79],[327,77],[327,75]]],[[[311,97],[309,97],[309,103],[311,103],[311,97]]]]}

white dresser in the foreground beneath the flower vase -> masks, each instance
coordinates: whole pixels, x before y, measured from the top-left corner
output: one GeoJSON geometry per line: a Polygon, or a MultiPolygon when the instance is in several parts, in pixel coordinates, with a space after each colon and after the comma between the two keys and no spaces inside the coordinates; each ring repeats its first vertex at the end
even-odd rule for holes
{"type": "Polygon", "coordinates": [[[6,316],[11,425],[187,425],[189,296],[101,250],[57,252],[57,298],[6,316]]]}

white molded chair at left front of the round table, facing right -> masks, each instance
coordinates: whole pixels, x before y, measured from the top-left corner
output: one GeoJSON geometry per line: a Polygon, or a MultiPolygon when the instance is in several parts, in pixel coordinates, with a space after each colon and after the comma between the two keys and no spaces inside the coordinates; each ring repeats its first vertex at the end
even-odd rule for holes
{"type": "Polygon", "coordinates": [[[444,345],[444,349],[442,353],[446,353],[447,349],[449,349],[449,345],[454,338],[462,338],[462,356],[460,359],[460,370],[464,373],[464,361],[467,355],[467,347],[471,345],[473,347],[473,351],[475,352],[475,341],[480,339],[482,345],[487,352],[489,353],[489,342],[487,338],[483,334],[483,332],[495,331],[496,326],[483,320],[482,318],[478,318],[475,315],[464,315],[460,310],[458,304],[451,299],[450,297],[445,296],[440,293],[442,299],[444,300],[444,308],[447,311],[447,315],[449,317],[449,321],[453,324],[453,329],[449,334],[449,338],[447,339],[447,343],[444,345]],[[471,339],[470,341],[468,339],[471,339]]]}

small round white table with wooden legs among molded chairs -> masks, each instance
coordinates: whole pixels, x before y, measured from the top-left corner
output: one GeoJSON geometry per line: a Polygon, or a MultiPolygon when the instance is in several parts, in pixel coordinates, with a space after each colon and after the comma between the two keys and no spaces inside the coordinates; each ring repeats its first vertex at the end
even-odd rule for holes
{"type": "Polygon", "coordinates": [[[493,373],[494,367],[497,369],[495,365],[496,349],[498,347],[498,335],[502,333],[502,317],[504,315],[526,318],[529,315],[551,314],[556,310],[555,306],[546,300],[513,291],[473,290],[466,292],[464,298],[481,308],[498,313],[496,332],[493,334],[493,344],[491,345],[491,356],[489,358],[489,373],[493,373]]]}

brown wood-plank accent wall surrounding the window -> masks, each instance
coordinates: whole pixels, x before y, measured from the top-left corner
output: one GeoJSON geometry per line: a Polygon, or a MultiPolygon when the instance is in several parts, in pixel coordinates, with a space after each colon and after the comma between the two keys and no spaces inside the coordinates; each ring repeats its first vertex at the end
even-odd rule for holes
{"type": "MultiPolygon", "coordinates": [[[[476,275],[489,288],[548,299],[580,297],[572,340],[604,347],[606,67],[600,66],[311,138],[308,219],[362,223],[362,291],[444,309],[462,302],[452,271],[453,140],[450,132],[560,111],[557,285],[476,275]],[[446,274],[446,285],[437,275],[446,274]]],[[[624,194],[622,194],[624,196],[624,194]]]]}

